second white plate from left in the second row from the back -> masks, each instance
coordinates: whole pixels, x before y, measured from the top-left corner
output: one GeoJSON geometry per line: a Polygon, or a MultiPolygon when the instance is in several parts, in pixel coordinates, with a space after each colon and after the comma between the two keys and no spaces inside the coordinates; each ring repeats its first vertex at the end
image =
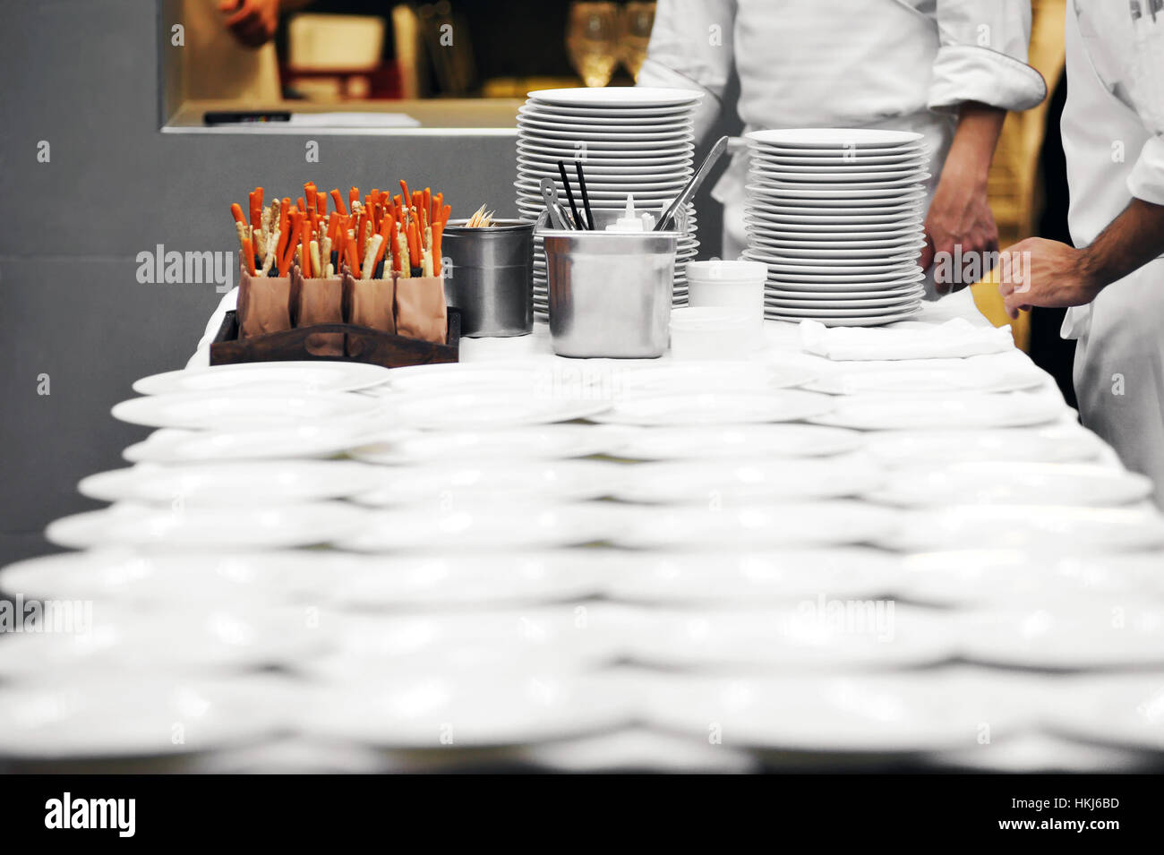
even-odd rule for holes
{"type": "Polygon", "coordinates": [[[405,393],[392,400],[397,427],[456,430],[548,425],[585,419],[610,408],[610,401],[551,398],[511,390],[405,393]]]}

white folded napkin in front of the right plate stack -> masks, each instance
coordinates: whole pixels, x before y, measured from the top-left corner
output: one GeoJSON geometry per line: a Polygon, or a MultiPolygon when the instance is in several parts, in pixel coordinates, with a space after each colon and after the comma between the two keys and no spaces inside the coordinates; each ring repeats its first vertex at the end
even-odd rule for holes
{"type": "Polygon", "coordinates": [[[998,354],[1014,348],[1010,327],[945,323],[895,327],[826,327],[801,321],[801,348],[829,359],[932,359],[998,354]]]}

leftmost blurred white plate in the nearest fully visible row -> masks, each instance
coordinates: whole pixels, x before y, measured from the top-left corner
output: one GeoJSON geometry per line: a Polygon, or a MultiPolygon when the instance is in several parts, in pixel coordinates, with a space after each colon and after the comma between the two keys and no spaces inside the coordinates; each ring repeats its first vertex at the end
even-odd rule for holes
{"type": "Polygon", "coordinates": [[[0,757],[109,761],[239,748],[282,729],[271,687],[254,675],[147,679],[123,672],[64,685],[13,685],[0,704],[0,757]]]}

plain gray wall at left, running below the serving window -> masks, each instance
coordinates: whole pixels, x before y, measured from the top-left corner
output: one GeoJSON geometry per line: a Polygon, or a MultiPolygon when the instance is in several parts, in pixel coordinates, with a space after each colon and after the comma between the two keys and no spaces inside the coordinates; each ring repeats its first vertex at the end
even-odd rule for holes
{"type": "MultiPolygon", "coordinates": [[[[0,0],[0,563],[48,551],[44,526],[97,507],[85,475],[122,465],[148,430],[109,418],[139,377],[180,368],[219,300],[213,285],[141,285],[135,256],[158,243],[229,250],[230,202],[256,184],[294,195],[440,186],[461,207],[512,214],[506,137],[159,133],[159,38],[151,0],[0,0]],[[37,163],[48,141],[49,163],[37,163]],[[48,375],[50,394],[37,393],[48,375]]],[[[701,255],[719,216],[701,194],[701,255]]]]}

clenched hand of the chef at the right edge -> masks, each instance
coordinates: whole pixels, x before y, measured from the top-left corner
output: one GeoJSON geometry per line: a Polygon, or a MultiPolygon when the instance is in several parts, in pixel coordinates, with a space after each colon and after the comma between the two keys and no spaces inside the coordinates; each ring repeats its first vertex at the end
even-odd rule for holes
{"type": "Polygon", "coordinates": [[[1000,256],[999,293],[1010,318],[1031,306],[1084,306],[1100,284],[1086,254],[1058,241],[1028,237],[1000,256]]]}

